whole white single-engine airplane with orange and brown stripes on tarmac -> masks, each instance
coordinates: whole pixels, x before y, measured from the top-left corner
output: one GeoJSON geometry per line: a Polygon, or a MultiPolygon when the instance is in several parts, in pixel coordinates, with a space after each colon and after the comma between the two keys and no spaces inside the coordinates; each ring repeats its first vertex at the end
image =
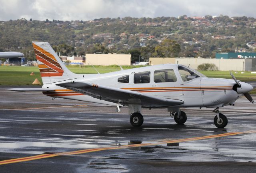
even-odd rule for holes
{"type": "Polygon", "coordinates": [[[162,64],[106,74],[74,74],[66,68],[47,42],[33,42],[42,89],[12,88],[12,91],[42,91],[50,97],[74,99],[129,107],[130,123],[143,123],[142,108],[168,108],[176,123],[184,124],[182,107],[216,107],[214,124],[226,127],[228,119],[219,108],[234,105],[242,95],[253,103],[250,84],[234,80],[207,78],[179,64],[162,64]]]}

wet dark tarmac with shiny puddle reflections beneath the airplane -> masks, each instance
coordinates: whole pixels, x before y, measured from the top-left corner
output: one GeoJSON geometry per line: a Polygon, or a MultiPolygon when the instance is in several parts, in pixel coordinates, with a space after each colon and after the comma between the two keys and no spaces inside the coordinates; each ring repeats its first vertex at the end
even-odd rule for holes
{"type": "Polygon", "coordinates": [[[143,109],[144,124],[132,127],[126,107],[116,113],[116,107],[51,100],[40,92],[4,89],[0,88],[0,161],[96,150],[0,165],[0,173],[254,173],[256,170],[256,133],[158,143],[256,130],[256,107],[243,97],[235,106],[220,109],[228,117],[225,129],[217,129],[212,109],[204,108],[183,109],[188,115],[185,125],[176,125],[166,109],[143,109]],[[146,143],[152,145],[143,145],[146,143]],[[130,144],[135,147],[122,148],[130,144]],[[97,150],[103,147],[117,149],[97,150]]]}

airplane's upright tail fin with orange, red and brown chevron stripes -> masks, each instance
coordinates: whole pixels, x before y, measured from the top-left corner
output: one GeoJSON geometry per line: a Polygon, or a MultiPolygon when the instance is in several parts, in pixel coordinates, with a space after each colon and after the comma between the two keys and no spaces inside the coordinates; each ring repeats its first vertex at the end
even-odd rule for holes
{"type": "Polygon", "coordinates": [[[78,78],[66,68],[48,42],[32,42],[43,84],[78,78]]]}

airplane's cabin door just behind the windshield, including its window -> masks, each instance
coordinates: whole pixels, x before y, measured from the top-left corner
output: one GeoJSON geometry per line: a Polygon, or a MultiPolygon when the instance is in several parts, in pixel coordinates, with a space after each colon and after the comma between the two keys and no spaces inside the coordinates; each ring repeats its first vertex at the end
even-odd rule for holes
{"type": "Polygon", "coordinates": [[[155,70],[152,73],[152,94],[164,98],[180,99],[182,85],[173,69],[155,70]]]}

